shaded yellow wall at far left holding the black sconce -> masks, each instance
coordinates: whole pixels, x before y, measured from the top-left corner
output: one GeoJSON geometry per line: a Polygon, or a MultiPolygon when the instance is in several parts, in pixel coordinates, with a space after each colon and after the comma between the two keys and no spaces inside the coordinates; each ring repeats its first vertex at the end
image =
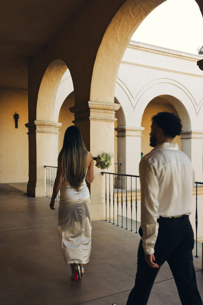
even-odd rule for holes
{"type": "Polygon", "coordinates": [[[0,183],[28,181],[27,91],[1,89],[0,183]],[[13,115],[19,114],[18,128],[13,115]]]}

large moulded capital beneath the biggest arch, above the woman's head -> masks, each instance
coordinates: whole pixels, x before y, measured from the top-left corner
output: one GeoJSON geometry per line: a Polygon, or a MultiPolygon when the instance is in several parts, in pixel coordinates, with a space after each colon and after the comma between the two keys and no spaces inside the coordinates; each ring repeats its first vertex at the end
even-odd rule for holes
{"type": "Polygon", "coordinates": [[[121,107],[120,104],[89,101],[70,107],[70,112],[74,113],[75,120],[73,123],[85,121],[107,121],[115,122],[115,111],[121,107]]]}

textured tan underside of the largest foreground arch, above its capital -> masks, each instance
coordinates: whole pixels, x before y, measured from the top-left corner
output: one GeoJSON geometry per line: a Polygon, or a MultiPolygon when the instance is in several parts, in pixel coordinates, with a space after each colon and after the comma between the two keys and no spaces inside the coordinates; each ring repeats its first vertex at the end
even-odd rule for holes
{"type": "Polygon", "coordinates": [[[118,69],[127,45],[142,20],[164,0],[128,0],[109,24],[93,69],[90,100],[113,102],[118,69]]]}

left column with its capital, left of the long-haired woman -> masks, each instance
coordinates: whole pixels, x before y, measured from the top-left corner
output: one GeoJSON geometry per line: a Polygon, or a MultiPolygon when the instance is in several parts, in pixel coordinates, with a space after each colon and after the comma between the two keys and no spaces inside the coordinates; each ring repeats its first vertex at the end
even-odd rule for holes
{"type": "Polygon", "coordinates": [[[35,120],[26,124],[29,137],[29,181],[27,194],[46,196],[46,169],[44,165],[57,166],[58,129],[61,123],[35,120]]]}

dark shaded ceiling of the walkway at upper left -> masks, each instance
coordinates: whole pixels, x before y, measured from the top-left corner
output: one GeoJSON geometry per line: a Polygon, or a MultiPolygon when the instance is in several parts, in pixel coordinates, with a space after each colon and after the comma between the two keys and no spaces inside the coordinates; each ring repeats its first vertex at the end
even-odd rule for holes
{"type": "Polygon", "coordinates": [[[2,0],[0,88],[27,89],[27,64],[89,0],[2,0]]]}

